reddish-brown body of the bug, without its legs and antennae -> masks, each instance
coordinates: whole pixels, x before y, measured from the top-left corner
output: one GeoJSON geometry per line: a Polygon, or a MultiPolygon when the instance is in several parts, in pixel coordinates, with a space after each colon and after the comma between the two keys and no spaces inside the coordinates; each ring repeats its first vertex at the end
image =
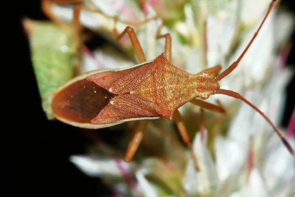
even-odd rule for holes
{"type": "MultiPolygon", "coordinates": [[[[83,84],[82,89],[86,89],[87,86],[92,87],[92,89],[90,88],[93,92],[91,95],[94,98],[98,95],[96,94],[98,89],[101,90],[101,99],[108,102],[103,108],[89,108],[89,110],[93,110],[93,114],[97,115],[91,120],[89,118],[87,123],[85,123],[85,116],[88,113],[76,114],[75,119],[78,119],[78,122],[82,124],[81,127],[87,127],[83,124],[104,125],[147,118],[171,120],[173,112],[184,103],[197,97],[207,99],[209,95],[215,94],[215,91],[220,88],[215,76],[210,76],[207,72],[190,74],[183,71],[173,66],[166,59],[164,53],[154,61],[137,66],[90,74],[84,79],[74,82],[70,87],[77,86],[77,84],[83,84]]],[[[77,91],[76,88],[71,90],[77,91]]],[[[77,95],[77,93],[72,91],[66,92],[67,97],[64,95],[65,91],[56,93],[56,99],[52,106],[57,117],[61,117],[67,107],[73,107],[74,103],[69,100],[73,94],[77,95]],[[64,105],[62,98],[59,99],[60,97],[68,103],[62,107],[62,110],[59,110],[61,109],[60,105],[64,105]]],[[[80,93],[77,95],[77,97],[81,96],[80,93]]],[[[102,102],[96,101],[96,103],[102,102]]],[[[86,103],[77,104],[83,108],[86,105],[86,103]]],[[[75,109],[78,108],[77,106],[75,109]]],[[[75,113],[75,110],[68,110],[69,113],[75,113]]]]}

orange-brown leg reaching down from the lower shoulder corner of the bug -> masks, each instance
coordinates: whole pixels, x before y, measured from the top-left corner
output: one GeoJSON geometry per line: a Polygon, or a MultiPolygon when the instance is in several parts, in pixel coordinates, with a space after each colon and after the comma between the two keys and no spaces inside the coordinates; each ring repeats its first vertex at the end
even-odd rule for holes
{"type": "Polygon", "coordinates": [[[177,110],[175,110],[174,112],[174,119],[175,119],[175,122],[176,122],[176,125],[177,125],[177,129],[182,137],[182,140],[187,144],[190,152],[191,152],[191,156],[192,156],[192,159],[193,159],[193,163],[194,163],[194,166],[195,166],[195,169],[197,171],[200,171],[200,167],[198,165],[198,162],[197,162],[197,158],[196,158],[196,155],[195,155],[195,152],[194,152],[194,149],[192,147],[192,144],[190,143],[190,138],[187,134],[187,131],[186,131],[186,127],[184,125],[184,122],[180,116],[180,113],[177,110]]]}

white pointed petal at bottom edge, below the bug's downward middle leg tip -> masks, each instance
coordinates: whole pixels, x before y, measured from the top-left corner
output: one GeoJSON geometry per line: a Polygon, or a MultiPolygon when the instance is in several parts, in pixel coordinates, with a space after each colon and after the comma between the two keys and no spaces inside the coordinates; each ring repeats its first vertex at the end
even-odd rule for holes
{"type": "MultiPolygon", "coordinates": [[[[204,131],[207,135],[207,131],[204,131]]],[[[201,134],[198,133],[193,142],[193,149],[196,153],[200,172],[196,172],[192,159],[189,157],[185,175],[182,180],[183,187],[188,195],[210,195],[215,194],[220,188],[216,167],[211,155],[202,143],[201,134]]]]}

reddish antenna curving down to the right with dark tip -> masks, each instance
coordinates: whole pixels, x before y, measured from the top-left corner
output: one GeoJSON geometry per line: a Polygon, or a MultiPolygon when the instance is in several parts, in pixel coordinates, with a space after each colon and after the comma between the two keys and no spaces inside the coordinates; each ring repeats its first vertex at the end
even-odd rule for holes
{"type": "Polygon", "coordinates": [[[278,129],[272,124],[272,122],[266,117],[266,115],[262,111],[260,111],[257,107],[255,107],[250,101],[243,98],[240,94],[238,94],[238,93],[236,93],[234,91],[231,91],[231,90],[219,89],[218,91],[216,91],[216,94],[221,94],[221,95],[227,95],[227,96],[230,96],[230,97],[234,97],[234,98],[240,99],[240,100],[244,101],[245,103],[247,103],[248,105],[250,105],[253,109],[255,109],[258,113],[260,113],[266,119],[266,121],[270,124],[270,126],[273,128],[273,130],[281,138],[284,145],[287,147],[288,151],[292,154],[293,157],[295,157],[294,150],[292,149],[289,142],[285,139],[285,137],[282,136],[280,131],[278,131],[278,129]]]}

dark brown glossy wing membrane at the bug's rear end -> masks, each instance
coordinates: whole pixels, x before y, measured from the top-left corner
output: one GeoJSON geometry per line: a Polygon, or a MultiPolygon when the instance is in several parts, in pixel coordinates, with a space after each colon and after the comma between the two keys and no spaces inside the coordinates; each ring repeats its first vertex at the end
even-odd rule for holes
{"type": "Polygon", "coordinates": [[[57,92],[51,107],[55,116],[62,119],[90,123],[113,97],[104,88],[82,79],[57,92]]]}

